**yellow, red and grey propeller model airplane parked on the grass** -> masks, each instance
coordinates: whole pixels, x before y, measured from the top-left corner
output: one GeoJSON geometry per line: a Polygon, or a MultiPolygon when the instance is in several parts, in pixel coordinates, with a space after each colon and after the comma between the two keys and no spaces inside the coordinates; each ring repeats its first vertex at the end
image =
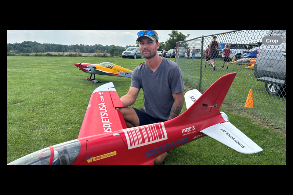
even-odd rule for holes
{"type": "Polygon", "coordinates": [[[86,80],[92,81],[92,83],[101,83],[100,81],[96,80],[96,74],[97,75],[108,75],[108,76],[121,76],[121,77],[131,77],[132,71],[128,70],[126,68],[123,68],[121,66],[118,66],[116,64],[112,64],[110,62],[103,62],[100,64],[85,64],[85,63],[79,63],[74,64],[82,70],[85,73],[91,74],[89,78],[86,80]],[[94,75],[94,78],[92,79],[92,75],[94,75]]]}

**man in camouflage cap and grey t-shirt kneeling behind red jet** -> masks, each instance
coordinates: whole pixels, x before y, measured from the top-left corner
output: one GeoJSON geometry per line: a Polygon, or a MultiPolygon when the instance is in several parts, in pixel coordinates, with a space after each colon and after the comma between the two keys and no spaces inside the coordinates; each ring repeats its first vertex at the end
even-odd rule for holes
{"type": "MultiPolygon", "coordinates": [[[[184,85],[179,66],[157,54],[160,47],[155,30],[138,32],[139,50],[145,62],[134,69],[128,93],[120,100],[119,108],[128,128],[163,122],[177,117],[184,103],[184,85]],[[143,89],[144,108],[129,107],[136,101],[139,89],[143,89]]],[[[161,164],[169,152],[161,154],[154,160],[161,164]]]]}

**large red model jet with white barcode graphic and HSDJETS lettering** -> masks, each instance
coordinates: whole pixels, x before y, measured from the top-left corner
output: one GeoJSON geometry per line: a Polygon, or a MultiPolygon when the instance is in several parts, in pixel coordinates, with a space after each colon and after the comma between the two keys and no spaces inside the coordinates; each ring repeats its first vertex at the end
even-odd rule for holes
{"type": "Polygon", "coordinates": [[[113,83],[104,84],[92,93],[78,139],[9,165],[154,165],[159,155],[206,135],[241,153],[258,153],[262,149],[219,112],[235,76],[222,76],[204,94],[186,92],[187,110],[175,119],[128,129],[113,83]]]}

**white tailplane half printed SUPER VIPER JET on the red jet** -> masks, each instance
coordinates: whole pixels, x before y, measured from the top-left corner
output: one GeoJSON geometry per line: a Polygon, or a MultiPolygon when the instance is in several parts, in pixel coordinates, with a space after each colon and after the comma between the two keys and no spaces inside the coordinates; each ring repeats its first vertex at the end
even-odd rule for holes
{"type": "Polygon", "coordinates": [[[201,133],[204,133],[215,140],[218,140],[222,144],[244,154],[255,154],[262,151],[262,148],[255,144],[230,122],[210,126],[202,130],[201,133]]]}

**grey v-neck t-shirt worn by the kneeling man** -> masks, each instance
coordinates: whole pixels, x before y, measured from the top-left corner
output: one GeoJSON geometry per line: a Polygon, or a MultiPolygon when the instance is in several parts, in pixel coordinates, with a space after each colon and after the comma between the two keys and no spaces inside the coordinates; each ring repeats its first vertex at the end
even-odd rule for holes
{"type": "Polygon", "coordinates": [[[144,112],[148,115],[168,120],[174,99],[172,94],[184,91],[183,78],[179,66],[166,58],[153,72],[143,62],[131,76],[131,87],[143,89],[144,112]]]}

